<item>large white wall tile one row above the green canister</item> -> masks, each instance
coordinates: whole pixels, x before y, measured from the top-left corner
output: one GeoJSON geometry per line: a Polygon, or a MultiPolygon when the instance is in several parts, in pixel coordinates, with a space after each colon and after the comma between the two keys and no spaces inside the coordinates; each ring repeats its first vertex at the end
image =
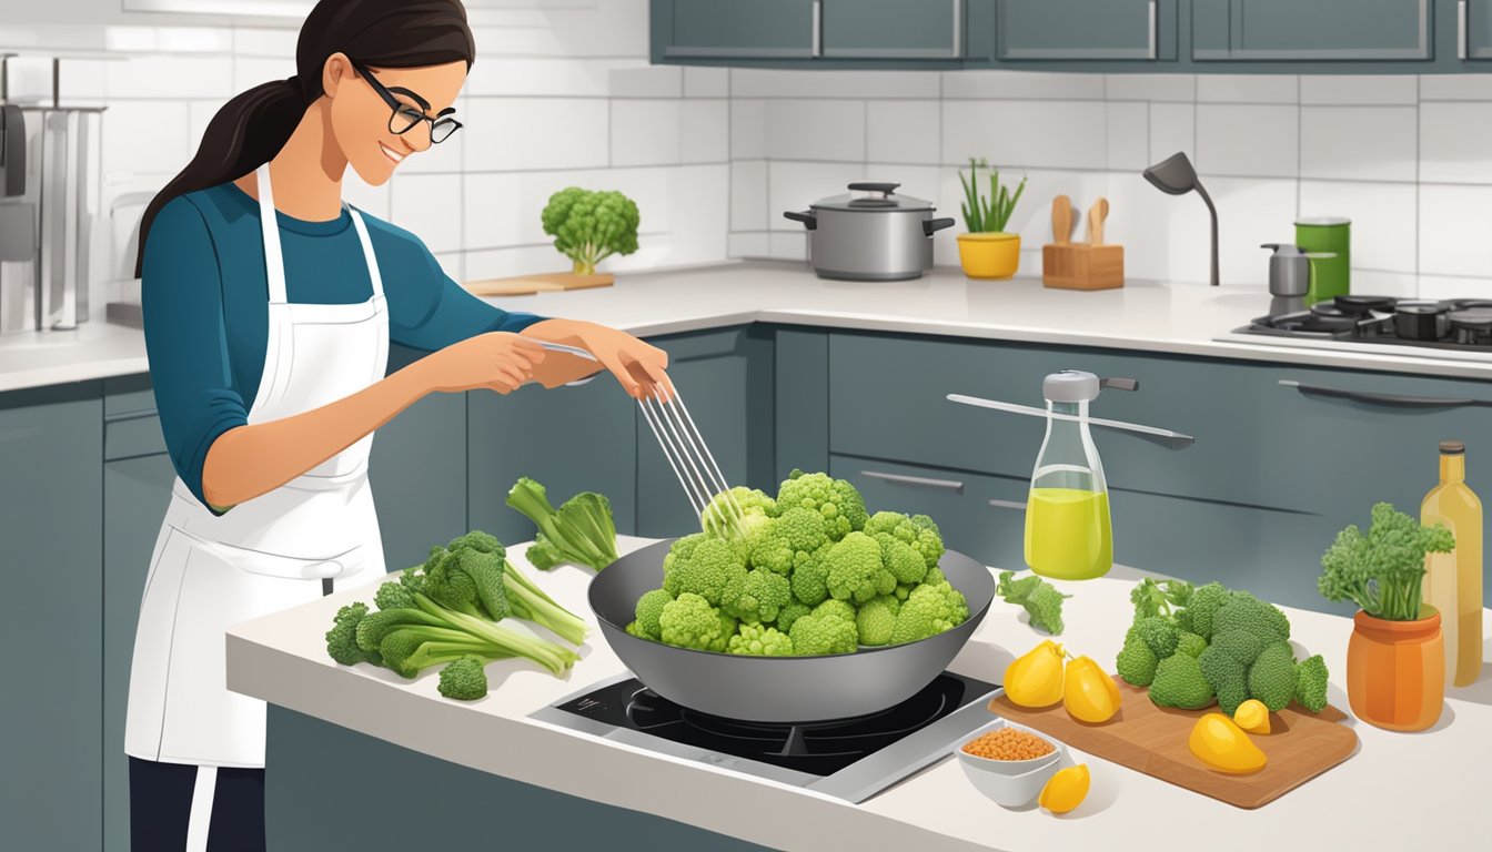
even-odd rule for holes
{"type": "Polygon", "coordinates": [[[1413,182],[1414,116],[1413,106],[1301,107],[1301,178],[1413,182]]]}

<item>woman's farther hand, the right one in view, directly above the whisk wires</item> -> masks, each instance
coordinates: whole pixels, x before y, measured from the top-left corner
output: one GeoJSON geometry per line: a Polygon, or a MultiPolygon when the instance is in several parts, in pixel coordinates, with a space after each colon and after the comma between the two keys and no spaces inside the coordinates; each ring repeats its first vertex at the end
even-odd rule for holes
{"type": "MultiPolygon", "coordinates": [[[[585,349],[595,355],[600,366],[610,370],[622,389],[634,398],[667,400],[673,395],[673,382],[665,372],[668,354],[625,331],[579,319],[545,319],[524,328],[522,336],[585,349]]],[[[554,363],[536,370],[534,378],[546,388],[555,388],[594,372],[595,364],[557,352],[554,363]]]]}

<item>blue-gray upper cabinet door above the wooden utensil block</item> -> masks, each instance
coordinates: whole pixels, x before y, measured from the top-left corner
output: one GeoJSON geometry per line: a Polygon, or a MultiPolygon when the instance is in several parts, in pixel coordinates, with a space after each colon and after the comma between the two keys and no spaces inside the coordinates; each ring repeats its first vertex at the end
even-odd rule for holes
{"type": "Polygon", "coordinates": [[[1176,0],[995,1],[1003,61],[1176,58],[1176,0]]]}

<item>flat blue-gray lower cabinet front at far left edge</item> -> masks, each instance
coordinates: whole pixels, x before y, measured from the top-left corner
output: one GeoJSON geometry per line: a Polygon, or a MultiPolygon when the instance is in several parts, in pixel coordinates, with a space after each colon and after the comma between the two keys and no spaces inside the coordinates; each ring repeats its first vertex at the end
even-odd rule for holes
{"type": "Polygon", "coordinates": [[[101,845],[101,448],[97,382],[0,397],[0,849],[101,845]]]}

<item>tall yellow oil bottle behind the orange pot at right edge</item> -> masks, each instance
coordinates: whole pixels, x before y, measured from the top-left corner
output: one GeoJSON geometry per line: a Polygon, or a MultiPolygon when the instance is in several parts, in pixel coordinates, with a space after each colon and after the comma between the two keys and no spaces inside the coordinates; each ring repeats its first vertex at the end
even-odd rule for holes
{"type": "Polygon", "coordinates": [[[1467,445],[1440,443],[1440,483],[1425,495],[1422,524],[1444,524],[1456,549],[1425,557],[1422,600],[1440,610],[1446,683],[1468,686],[1482,673],[1482,500],[1467,486],[1467,445]]]}

